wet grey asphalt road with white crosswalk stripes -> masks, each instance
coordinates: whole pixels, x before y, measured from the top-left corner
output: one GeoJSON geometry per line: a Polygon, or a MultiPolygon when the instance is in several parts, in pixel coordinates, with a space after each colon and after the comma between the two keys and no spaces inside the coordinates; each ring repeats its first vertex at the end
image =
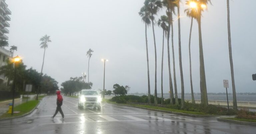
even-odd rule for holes
{"type": "Polygon", "coordinates": [[[256,127],[219,122],[215,117],[194,118],[113,104],[101,111],[80,110],[77,99],[63,97],[62,110],[54,119],[56,96],[45,97],[32,114],[0,121],[1,134],[157,134],[157,133],[255,133],[256,127]]]}

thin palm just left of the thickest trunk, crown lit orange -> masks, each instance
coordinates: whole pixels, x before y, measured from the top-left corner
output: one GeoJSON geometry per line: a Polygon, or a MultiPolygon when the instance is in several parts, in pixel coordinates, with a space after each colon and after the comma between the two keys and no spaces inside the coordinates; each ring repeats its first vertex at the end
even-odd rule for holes
{"type": "MultiPolygon", "coordinates": [[[[190,0],[190,1],[186,1],[186,5],[190,5],[191,2],[196,3],[196,0],[190,0]]],[[[193,83],[192,83],[192,71],[191,71],[191,53],[190,53],[190,41],[191,41],[191,32],[192,32],[192,25],[193,25],[193,19],[197,18],[197,10],[194,7],[190,7],[188,9],[185,9],[185,11],[187,13],[188,17],[191,17],[191,25],[190,25],[190,32],[189,32],[189,67],[190,67],[190,86],[191,86],[191,95],[192,95],[192,103],[195,104],[195,98],[194,98],[194,91],[193,91],[193,83]]]]}

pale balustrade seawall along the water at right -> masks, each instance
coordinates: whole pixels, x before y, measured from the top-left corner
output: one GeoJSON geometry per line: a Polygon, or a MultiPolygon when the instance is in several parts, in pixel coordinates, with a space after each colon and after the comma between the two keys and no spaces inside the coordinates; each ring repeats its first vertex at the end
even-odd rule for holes
{"type": "MultiPolygon", "coordinates": [[[[185,99],[185,101],[192,102],[190,99],[185,99]]],[[[195,100],[196,103],[201,103],[201,100],[195,100]]],[[[208,104],[213,105],[220,105],[220,106],[233,106],[233,101],[223,101],[223,100],[208,100],[208,104]]],[[[249,107],[249,108],[256,108],[256,102],[251,101],[237,101],[238,107],[249,107]]]]}

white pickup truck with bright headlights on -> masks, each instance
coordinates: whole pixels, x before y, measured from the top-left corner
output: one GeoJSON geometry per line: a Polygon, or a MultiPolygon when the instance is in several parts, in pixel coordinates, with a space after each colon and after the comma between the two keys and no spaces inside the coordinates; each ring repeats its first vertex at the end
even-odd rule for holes
{"type": "Polygon", "coordinates": [[[78,94],[78,108],[83,109],[93,107],[93,109],[101,109],[101,95],[97,90],[81,90],[78,94]]]}

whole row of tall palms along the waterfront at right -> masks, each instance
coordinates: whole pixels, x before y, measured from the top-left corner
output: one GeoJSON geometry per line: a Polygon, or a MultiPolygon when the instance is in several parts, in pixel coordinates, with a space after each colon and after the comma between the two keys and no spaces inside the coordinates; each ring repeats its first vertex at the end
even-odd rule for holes
{"type": "MultiPolygon", "coordinates": [[[[150,79],[149,79],[149,58],[148,58],[148,39],[147,39],[147,28],[152,26],[153,30],[153,41],[155,49],[155,90],[154,90],[154,104],[158,104],[157,101],[157,55],[156,55],[156,38],[155,38],[155,29],[156,24],[156,15],[160,9],[166,10],[166,15],[162,15],[158,21],[157,25],[163,30],[163,44],[162,44],[162,66],[161,66],[161,103],[163,103],[163,53],[164,53],[164,40],[167,39],[167,54],[168,54],[168,71],[169,71],[169,88],[170,88],[170,103],[173,104],[175,98],[175,104],[178,105],[178,93],[177,93],[177,79],[176,79],[176,68],[175,68],[175,57],[174,57],[174,42],[173,42],[173,18],[176,15],[178,18],[178,53],[179,53],[179,70],[180,70],[180,80],[181,80],[181,108],[184,107],[184,80],[183,80],[183,70],[182,70],[182,55],[181,55],[181,33],[180,33],[180,5],[181,0],[145,0],[143,7],[139,11],[139,15],[142,18],[142,21],[145,23],[145,41],[146,41],[146,55],[147,55],[147,74],[148,74],[148,103],[150,103],[150,79]],[[173,80],[172,72],[170,67],[170,35],[171,35],[171,45],[172,45],[172,59],[173,59],[173,80]],[[173,86],[174,82],[174,86],[173,86]],[[173,91],[174,89],[174,91],[173,91]]],[[[207,86],[205,78],[205,67],[204,67],[204,57],[203,57],[203,43],[202,43],[202,30],[201,30],[201,16],[202,12],[207,9],[207,4],[211,4],[210,0],[187,0],[185,4],[187,9],[184,12],[188,17],[191,18],[190,25],[190,34],[189,34],[189,62],[190,62],[190,86],[192,94],[192,103],[195,103],[194,94],[193,94],[193,83],[192,83],[192,72],[191,72],[191,31],[193,25],[193,19],[197,21],[198,24],[198,37],[199,37],[199,61],[200,61],[200,91],[201,91],[201,104],[205,107],[208,106],[207,98],[207,86]]],[[[231,79],[232,79],[232,89],[233,89],[233,108],[237,109],[236,104],[236,92],[235,92],[235,83],[234,83],[234,71],[233,71],[233,61],[232,61],[232,51],[231,51],[231,36],[230,36],[230,20],[229,20],[229,0],[227,0],[227,20],[228,20],[228,48],[229,48],[229,58],[230,58],[230,67],[231,67],[231,79]]],[[[177,52],[176,52],[177,53],[177,52]]]]}

